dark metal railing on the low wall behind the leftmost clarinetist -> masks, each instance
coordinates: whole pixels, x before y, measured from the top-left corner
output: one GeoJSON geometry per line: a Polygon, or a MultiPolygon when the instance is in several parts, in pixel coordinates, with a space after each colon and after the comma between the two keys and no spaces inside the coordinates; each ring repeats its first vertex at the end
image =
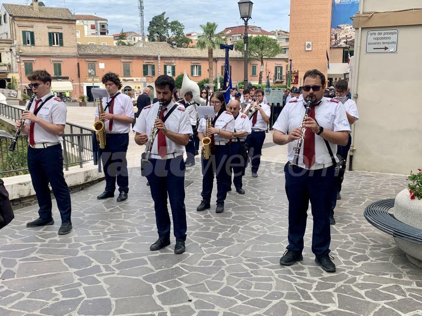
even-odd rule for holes
{"type": "MultiPolygon", "coordinates": [[[[0,115],[12,121],[18,121],[24,110],[13,105],[0,103],[0,115]]],[[[92,137],[95,136],[93,129],[66,122],[63,133],[63,166],[79,165],[80,168],[86,162],[93,161],[92,137]]],[[[14,152],[8,151],[11,139],[0,136],[0,175],[16,175],[27,173],[27,136],[20,135],[14,152]]]]}

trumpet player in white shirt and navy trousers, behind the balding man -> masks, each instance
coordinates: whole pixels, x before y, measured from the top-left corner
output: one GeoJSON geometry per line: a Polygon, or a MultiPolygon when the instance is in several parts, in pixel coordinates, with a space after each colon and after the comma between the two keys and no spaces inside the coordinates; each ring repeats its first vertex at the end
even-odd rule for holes
{"type": "MultiPolygon", "coordinates": [[[[258,177],[258,169],[261,164],[261,152],[265,140],[265,130],[271,115],[271,107],[264,102],[264,90],[255,90],[255,113],[249,118],[252,125],[252,133],[246,138],[246,146],[249,148],[249,158],[251,160],[252,177],[258,177]]],[[[244,114],[248,114],[246,106],[244,114]]],[[[247,165],[245,166],[245,168],[247,165]]]]}

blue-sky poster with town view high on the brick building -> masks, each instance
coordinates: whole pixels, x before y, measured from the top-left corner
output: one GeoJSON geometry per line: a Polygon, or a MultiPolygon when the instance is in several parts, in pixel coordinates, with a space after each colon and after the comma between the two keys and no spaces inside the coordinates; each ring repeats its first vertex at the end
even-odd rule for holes
{"type": "Polygon", "coordinates": [[[344,47],[355,38],[350,17],[359,11],[359,0],[333,0],[331,11],[331,47],[344,47]]]}

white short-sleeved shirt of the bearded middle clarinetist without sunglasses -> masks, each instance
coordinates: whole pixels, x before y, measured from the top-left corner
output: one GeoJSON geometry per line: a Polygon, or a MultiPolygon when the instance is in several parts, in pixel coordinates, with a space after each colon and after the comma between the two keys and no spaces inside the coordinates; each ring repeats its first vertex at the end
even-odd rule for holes
{"type": "MultiPolygon", "coordinates": [[[[171,101],[167,106],[167,111],[169,111],[173,105],[173,101],[171,101]]],[[[164,125],[165,127],[175,133],[178,134],[186,134],[191,136],[193,134],[192,126],[189,121],[189,115],[185,110],[185,106],[182,104],[176,103],[177,108],[170,114],[170,116],[165,120],[164,125]]],[[[152,105],[145,106],[141,114],[139,115],[138,119],[136,120],[135,126],[133,126],[133,130],[138,132],[139,134],[147,134],[148,138],[151,136],[152,128],[154,127],[154,123],[157,118],[158,114],[158,107],[159,103],[156,102],[152,105]]],[[[164,117],[167,114],[167,111],[164,112],[164,117]]],[[[148,141],[149,142],[149,141],[148,141]]],[[[185,152],[185,146],[176,144],[171,139],[166,137],[165,143],[167,146],[167,154],[175,153],[175,156],[183,155],[185,152]]],[[[149,143],[146,144],[146,148],[148,148],[149,143]]],[[[145,149],[146,150],[146,149],[145,149]]],[[[156,159],[162,159],[161,156],[158,155],[158,136],[156,137],[153,147],[151,149],[151,153],[156,159]]]]}

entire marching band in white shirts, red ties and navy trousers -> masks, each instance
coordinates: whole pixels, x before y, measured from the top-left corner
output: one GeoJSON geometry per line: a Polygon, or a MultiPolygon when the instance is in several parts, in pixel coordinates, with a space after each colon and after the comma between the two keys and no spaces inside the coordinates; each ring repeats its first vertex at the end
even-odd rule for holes
{"type": "MultiPolygon", "coordinates": [[[[22,118],[23,133],[28,135],[28,167],[35,189],[39,218],[27,227],[53,224],[52,200],[48,184],[53,188],[62,224],[59,234],[72,230],[71,199],[63,176],[60,142],[66,122],[66,106],[50,92],[51,75],[37,70],[28,76],[29,87],[36,95],[22,118]]],[[[206,106],[213,107],[213,118],[198,118],[198,103],[193,92],[177,100],[174,79],[158,76],[157,97],[151,102],[151,90],[145,88],[135,98],[120,93],[122,87],[116,73],[106,73],[102,82],[110,97],[103,98],[103,111],[97,108],[95,121],[104,122],[106,144],[99,149],[106,177],[105,190],[98,199],[114,197],[118,202],[128,199],[129,176],[126,153],[131,132],[137,145],[148,145],[148,158],[143,156],[145,175],[150,185],[157,221],[158,240],[150,246],[156,251],[170,244],[173,218],[176,238],[174,252],[185,252],[186,209],[185,170],[195,166],[195,156],[201,152],[202,200],[196,211],[211,208],[214,177],[217,183],[216,213],[224,212],[227,192],[232,183],[238,194],[245,194],[242,177],[250,164],[251,176],[258,177],[262,147],[271,116],[265,93],[257,87],[231,91],[226,103],[223,93],[202,89],[200,96],[206,106]],[[135,105],[135,106],[134,106],[135,105]],[[207,142],[205,140],[207,139],[207,142]],[[209,140],[208,140],[209,139],[209,140]],[[151,142],[151,144],[150,144],[151,142]],[[151,146],[149,146],[151,145],[151,146]],[[200,146],[201,145],[201,146],[200,146]],[[204,150],[207,149],[208,155],[204,150]],[[209,151],[208,151],[209,150],[209,151]],[[186,160],[184,153],[186,152],[186,160]]],[[[336,82],[336,97],[324,97],[326,80],[317,70],[305,73],[303,86],[286,91],[285,104],[273,125],[273,142],[288,145],[288,160],[284,167],[286,195],[289,200],[289,245],[280,259],[281,265],[302,260],[303,236],[308,204],[314,219],[312,251],[324,270],[336,270],[329,256],[330,224],[334,224],[334,208],[340,198],[347,152],[350,147],[351,124],[359,119],[356,103],[347,97],[346,80],[336,82]],[[309,111],[305,115],[305,111],[309,111]],[[301,140],[299,142],[298,140],[301,140]],[[299,147],[299,143],[303,146],[299,147]],[[292,164],[295,152],[300,152],[297,164],[292,164]]],[[[329,89],[328,89],[329,90],[329,89]]],[[[16,123],[19,127],[21,122],[16,123]]]]}

